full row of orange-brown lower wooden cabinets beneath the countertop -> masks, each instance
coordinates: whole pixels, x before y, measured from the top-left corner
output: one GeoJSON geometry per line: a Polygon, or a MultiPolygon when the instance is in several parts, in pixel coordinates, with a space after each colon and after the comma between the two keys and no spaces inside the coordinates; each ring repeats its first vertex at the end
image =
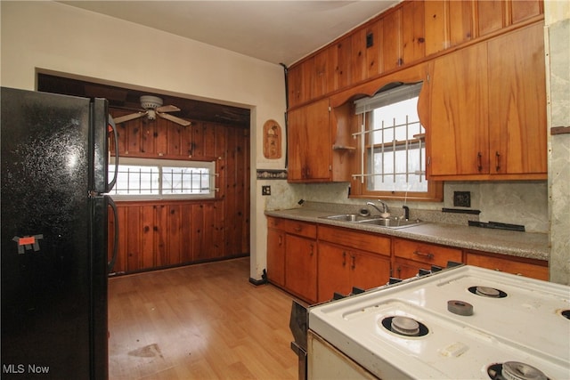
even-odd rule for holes
{"type": "Polygon", "coordinates": [[[267,279],[307,303],[322,303],[353,287],[409,279],[432,265],[466,263],[534,279],[549,278],[548,262],[490,254],[361,230],[267,217],[267,279]]]}

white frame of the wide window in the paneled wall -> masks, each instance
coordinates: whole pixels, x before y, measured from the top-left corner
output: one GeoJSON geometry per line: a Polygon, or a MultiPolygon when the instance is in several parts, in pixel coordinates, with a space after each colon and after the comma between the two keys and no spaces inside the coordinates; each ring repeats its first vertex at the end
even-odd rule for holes
{"type": "MultiPolygon", "coordinates": [[[[110,164],[110,166],[113,164],[110,164]]],[[[141,201],[141,200],[192,200],[192,199],[214,199],[216,198],[216,161],[203,160],[175,160],[161,158],[126,158],[119,157],[118,165],[124,166],[158,166],[159,182],[162,182],[163,167],[192,167],[192,168],[208,168],[209,174],[209,192],[202,194],[164,194],[162,192],[162,183],[159,183],[159,194],[114,194],[111,190],[109,195],[113,200],[117,201],[141,201]]],[[[109,166],[109,167],[110,167],[109,166]]],[[[112,174],[110,174],[112,175],[112,174]]]]}

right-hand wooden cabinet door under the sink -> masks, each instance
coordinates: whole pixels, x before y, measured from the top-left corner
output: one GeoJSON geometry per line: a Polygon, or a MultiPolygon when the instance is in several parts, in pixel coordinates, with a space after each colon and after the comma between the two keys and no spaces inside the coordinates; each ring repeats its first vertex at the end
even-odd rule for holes
{"type": "Polygon", "coordinates": [[[386,285],[390,273],[390,260],[383,255],[353,251],[349,257],[351,286],[364,290],[386,285]]]}

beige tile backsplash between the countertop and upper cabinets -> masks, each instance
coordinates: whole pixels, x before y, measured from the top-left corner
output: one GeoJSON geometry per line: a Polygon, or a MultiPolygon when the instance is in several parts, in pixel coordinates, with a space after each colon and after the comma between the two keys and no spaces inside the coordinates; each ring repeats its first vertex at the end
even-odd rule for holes
{"type": "MultiPolygon", "coordinates": [[[[299,207],[299,200],[316,202],[321,206],[344,205],[357,211],[367,199],[348,198],[348,183],[289,184],[272,181],[272,196],[265,200],[265,209],[299,207]]],[[[259,184],[258,184],[259,185],[259,184]]],[[[548,232],[548,194],[546,181],[533,182],[445,182],[444,202],[405,202],[411,218],[430,222],[449,222],[466,225],[468,220],[522,224],[529,232],[548,232]],[[466,210],[480,210],[480,214],[444,213],[442,208],[453,207],[453,192],[469,191],[471,206],[466,210]]],[[[370,199],[374,201],[374,198],[370,199]]],[[[403,201],[387,201],[391,214],[403,214],[403,201]]],[[[315,206],[311,204],[311,206],[315,206]]],[[[333,210],[334,211],[334,210],[333,210]]],[[[371,210],[373,211],[373,210],[371,210]]]]}

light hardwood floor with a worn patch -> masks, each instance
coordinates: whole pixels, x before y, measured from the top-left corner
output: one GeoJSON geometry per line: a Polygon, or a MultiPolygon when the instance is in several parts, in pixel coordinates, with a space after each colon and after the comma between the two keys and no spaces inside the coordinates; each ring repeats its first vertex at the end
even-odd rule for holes
{"type": "Polygon", "coordinates": [[[291,296],[248,279],[248,257],[110,279],[110,379],[297,379],[291,296]]]}

